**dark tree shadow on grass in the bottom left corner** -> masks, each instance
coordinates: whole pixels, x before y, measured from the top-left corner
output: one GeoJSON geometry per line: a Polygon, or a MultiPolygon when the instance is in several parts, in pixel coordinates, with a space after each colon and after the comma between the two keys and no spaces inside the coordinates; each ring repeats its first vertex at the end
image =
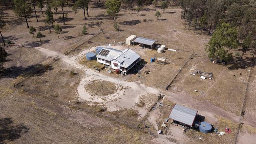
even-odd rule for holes
{"type": "Polygon", "coordinates": [[[23,123],[14,125],[11,118],[0,118],[0,143],[6,144],[19,139],[28,130],[29,128],[23,123]]]}

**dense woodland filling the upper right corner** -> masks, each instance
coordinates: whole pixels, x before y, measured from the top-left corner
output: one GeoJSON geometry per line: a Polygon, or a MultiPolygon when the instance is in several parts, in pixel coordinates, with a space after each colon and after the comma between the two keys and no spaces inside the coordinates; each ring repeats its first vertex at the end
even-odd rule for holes
{"type": "Polygon", "coordinates": [[[237,48],[237,44],[243,48],[243,54],[249,48],[251,52],[255,49],[255,0],[179,0],[178,4],[188,29],[193,26],[194,31],[213,33],[206,47],[210,58],[229,61],[232,55],[228,51],[237,48]]]}

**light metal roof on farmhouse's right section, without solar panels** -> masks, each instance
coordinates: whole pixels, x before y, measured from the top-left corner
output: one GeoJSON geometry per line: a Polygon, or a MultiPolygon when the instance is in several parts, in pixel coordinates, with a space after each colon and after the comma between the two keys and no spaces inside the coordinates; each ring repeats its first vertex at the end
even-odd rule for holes
{"type": "Polygon", "coordinates": [[[122,51],[122,54],[119,54],[111,59],[111,61],[117,61],[120,63],[120,66],[128,68],[136,61],[140,56],[131,49],[126,49],[122,51]]]}

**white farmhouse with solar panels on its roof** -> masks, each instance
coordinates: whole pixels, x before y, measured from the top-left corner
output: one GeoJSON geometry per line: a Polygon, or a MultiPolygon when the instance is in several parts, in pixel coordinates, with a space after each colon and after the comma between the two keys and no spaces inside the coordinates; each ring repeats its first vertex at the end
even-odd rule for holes
{"type": "Polygon", "coordinates": [[[121,72],[128,72],[141,57],[131,49],[123,51],[113,48],[102,48],[97,55],[98,63],[111,66],[113,69],[119,69],[121,72]]]}

